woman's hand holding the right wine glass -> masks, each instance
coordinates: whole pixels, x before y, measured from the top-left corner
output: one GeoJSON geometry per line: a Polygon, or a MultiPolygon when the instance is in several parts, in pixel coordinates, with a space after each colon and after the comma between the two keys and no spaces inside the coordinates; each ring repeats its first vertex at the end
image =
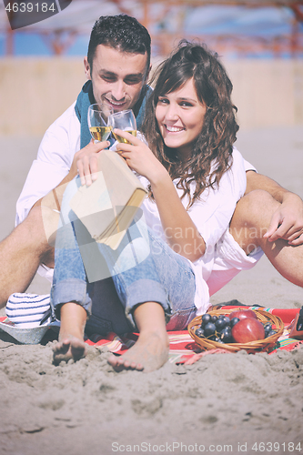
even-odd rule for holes
{"type": "Polygon", "coordinates": [[[127,139],[131,144],[118,144],[116,151],[126,159],[129,167],[140,176],[146,177],[151,184],[161,177],[167,176],[167,169],[159,162],[149,147],[136,136],[132,136],[121,129],[114,130],[116,135],[127,139]]]}

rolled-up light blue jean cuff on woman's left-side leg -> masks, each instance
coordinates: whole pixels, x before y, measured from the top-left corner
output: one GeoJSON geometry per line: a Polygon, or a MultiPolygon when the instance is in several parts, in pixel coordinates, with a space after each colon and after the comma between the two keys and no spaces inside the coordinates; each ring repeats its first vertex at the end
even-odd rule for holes
{"type": "Polygon", "coordinates": [[[51,307],[56,319],[60,319],[60,308],[68,302],[76,302],[85,308],[87,316],[92,314],[92,299],[87,294],[86,281],[69,278],[56,283],[51,290],[51,307]]]}

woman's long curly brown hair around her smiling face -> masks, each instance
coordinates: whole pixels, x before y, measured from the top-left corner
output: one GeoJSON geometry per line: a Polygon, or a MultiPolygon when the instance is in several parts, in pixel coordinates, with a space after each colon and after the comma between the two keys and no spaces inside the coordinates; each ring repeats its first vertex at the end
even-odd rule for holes
{"type": "Polygon", "coordinates": [[[182,197],[189,197],[189,208],[207,187],[218,186],[220,178],[232,165],[233,144],[238,130],[237,107],[230,99],[233,86],[225,68],[217,60],[217,54],[207,50],[205,45],[186,40],[182,40],[177,50],[157,67],[153,81],[156,81],[155,88],[147,100],[142,132],[170,177],[179,180],[177,187],[184,190],[182,197]],[[159,96],[176,91],[191,78],[197,98],[207,106],[207,113],[192,157],[181,161],[174,149],[163,142],[157,126],[156,107],[159,96]],[[196,189],[191,195],[190,184],[193,182],[196,189]]]}

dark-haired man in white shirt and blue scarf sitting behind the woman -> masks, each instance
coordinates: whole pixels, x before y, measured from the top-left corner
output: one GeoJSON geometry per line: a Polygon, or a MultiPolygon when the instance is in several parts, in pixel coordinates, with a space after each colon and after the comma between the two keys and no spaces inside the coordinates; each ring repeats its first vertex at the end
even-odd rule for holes
{"type": "MultiPolygon", "coordinates": [[[[140,127],[146,94],[150,90],[146,86],[150,69],[150,36],[146,28],[126,15],[100,17],[92,30],[84,64],[88,82],[76,104],[70,106],[46,131],[38,157],[17,202],[18,226],[0,244],[1,306],[5,306],[7,298],[13,292],[25,291],[37,268],[52,279],[54,248],[48,244],[45,236],[41,200],[44,197],[52,198],[53,208],[58,210],[63,189],[78,172],[82,183],[91,182],[90,169],[96,167],[96,153],[107,147],[107,143],[89,143],[86,122],[89,104],[105,102],[116,110],[132,108],[136,114],[138,129],[140,127]],[[55,196],[54,188],[58,189],[55,196]]],[[[283,260],[277,260],[276,248],[277,242],[280,245],[278,248],[284,248],[288,244],[294,247],[303,243],[303,203],[297,195],[279,187],[273,180],[258,175],[249,163],[247,197],[243,197],[237,205],[231,222],[231,232],[247,255],[252,248],[261,247],[282,275],[303,286],[300,271],[302,267],[288,267],[288,261],[287,267],[283,266],[283,260]],[[264,196],[264,204],[270,206],[270,210],[265,210],[270,214],[269,220],[266,220],[268,231],[264,233],[261,227],[258,227],[258,238],[255,236],[252,247],[253,242],[247,229],[256,228],[254,221],[257,217],[254,215],[251,219],[251,216],[256,212],[263,212],[261,201],[264,196]]],[[[292,260],[291,252],[289,260],[292,260]]],[[[218,282],[221,288],[238,271],[231,267],[225,275],[226,278],[220,280],[214,274],[214,279],[207,282],[210,294],[218,290],[218,282]]],[[[217,273],[219,274],[220,270],[217,273]]]]}

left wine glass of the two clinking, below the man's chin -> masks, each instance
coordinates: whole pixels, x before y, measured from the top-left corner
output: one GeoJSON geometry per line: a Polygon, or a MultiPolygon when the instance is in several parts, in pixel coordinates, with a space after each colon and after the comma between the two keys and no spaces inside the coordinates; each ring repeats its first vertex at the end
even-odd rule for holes
{"type": "Polygon", "coordinates": [[[110,135],[112,128],[108,126],[108,117],[113,112],[112,107],[106,104],[94,104],[88,107],[87,123],[95,142],[106,141],[110,135]]]}

